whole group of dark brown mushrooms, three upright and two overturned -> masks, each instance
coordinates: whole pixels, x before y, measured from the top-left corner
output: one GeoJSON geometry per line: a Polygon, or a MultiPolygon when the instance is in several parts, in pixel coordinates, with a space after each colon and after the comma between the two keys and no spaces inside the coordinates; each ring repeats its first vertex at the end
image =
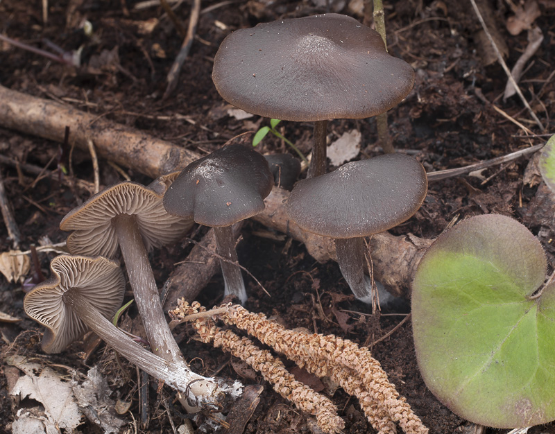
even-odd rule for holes
{"type": "MultiPolygon", "coordinates": [[[[308,177],[293,187],[287,214],[302,229],[335,239],[345,280],[357,299],[370,302],[364,237],[412,216],[425,198],[427,178],[416,159],[402,154],[350,162],[326,174],[327,121],[362,119],[398,104],[413,85],[409,64],[388,55],[381,37],[357,20],[327,14],[232,33],[216,54],[213,79],[225,100],[247,112],[314,122],[308,177]]],[[[291,156],[286,164],[274,158],[228,144],[179,175],[148,186],[122,182],[69,212],[60,228],[72,231],[71,255],[53,259],[51,279],[24,300],[26,313],[46,327],[44,351],[62,351],[92,329],[128,360],[180,390],[189,410],[213,405],[222,392],[238,393],[237,383],[189,370],[164,316],[148,252],[180,240],[194,223],[214,227],[225,295],[246,302],[232,225],[262,211],[275,183],[292,186],[300,165],[291,156]],[[285,175],[289,170],[292,175],[285,175]],[[118,251],[152,352],[107,319],[121,306],[125,288],[114,261],[118,251]]]]}

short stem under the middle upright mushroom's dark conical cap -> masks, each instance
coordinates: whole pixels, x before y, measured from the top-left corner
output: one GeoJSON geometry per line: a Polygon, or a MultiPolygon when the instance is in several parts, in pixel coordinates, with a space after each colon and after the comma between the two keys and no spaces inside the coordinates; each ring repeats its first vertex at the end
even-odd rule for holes
{"type": "Polygon", "coordinates": [[[235,250],[235,238],[233,236],[231,226],[214,227],[214,235],[216,236],[216,249],[218,254],[227,259],[220,259],[221,272],[225,285],[224,295],[237,295],[241,300],[241,304],[247,301],[247,292],[239,261],[237,261],[237,251],[235,250]]]}

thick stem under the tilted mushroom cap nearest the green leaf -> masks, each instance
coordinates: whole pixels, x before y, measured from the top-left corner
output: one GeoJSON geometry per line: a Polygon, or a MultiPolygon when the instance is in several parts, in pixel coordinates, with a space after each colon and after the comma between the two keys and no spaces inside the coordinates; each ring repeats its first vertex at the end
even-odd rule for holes
{"type": "Polygon", "coordinates": [[[335,250],[341,274],[358,300],[372,303],[372,283],[364,275],[364,238],[336,238],[335,250]]]}

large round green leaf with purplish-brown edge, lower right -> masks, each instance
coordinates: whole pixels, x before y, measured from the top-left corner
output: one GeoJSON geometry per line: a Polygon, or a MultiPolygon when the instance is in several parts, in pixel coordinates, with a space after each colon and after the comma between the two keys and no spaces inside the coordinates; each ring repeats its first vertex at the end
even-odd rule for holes
{"type": "Polygon", "coordinates": [[[522,428],[555,419],[555,283],[543,248],[506,216],[447,230],[413,281],[416,357],[436,397],[470,422],[522,428]]]}

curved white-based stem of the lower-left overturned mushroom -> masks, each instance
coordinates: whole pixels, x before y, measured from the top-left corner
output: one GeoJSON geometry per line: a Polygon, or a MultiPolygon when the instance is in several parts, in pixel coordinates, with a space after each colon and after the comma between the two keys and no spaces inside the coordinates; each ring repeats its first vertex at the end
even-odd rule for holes
{"type": "Polygon", "coordinates": [[[63,300],[89,328],[100,336],[108,345],[116,349],[128,361],[140,369],[151,374],[155,379],[164,381],[172,388],[184,392],[192,405],[199,403],[214,403],[219,385],[216,380],[208,380],[190,370],[183,370],[182,366],[171,363],[152,354],[133,342],[123,331],[114,327],[109,320],[90,304],[86,297],[78,290],[70,289],[63,295],[63,300]],[[196,383],[203,381],[205,388],[202,393],[196,388],[196,383]]]}

